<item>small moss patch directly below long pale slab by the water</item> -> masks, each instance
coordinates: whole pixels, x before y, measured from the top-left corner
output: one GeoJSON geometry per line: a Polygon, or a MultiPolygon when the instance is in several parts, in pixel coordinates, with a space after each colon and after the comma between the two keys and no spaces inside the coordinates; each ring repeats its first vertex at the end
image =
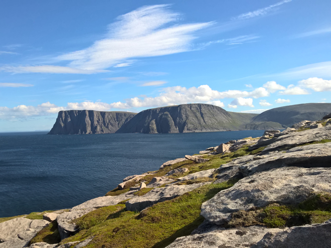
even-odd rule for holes
{"type": "Polygon", "coordinates": [[[113,218],[118,211],[125,207],[124,204],[118,204],[115,206],[100,207],[82,217],[74,220],[80,230],[89,229],[95,225],[98,225],[106,219],[113,218]]]}

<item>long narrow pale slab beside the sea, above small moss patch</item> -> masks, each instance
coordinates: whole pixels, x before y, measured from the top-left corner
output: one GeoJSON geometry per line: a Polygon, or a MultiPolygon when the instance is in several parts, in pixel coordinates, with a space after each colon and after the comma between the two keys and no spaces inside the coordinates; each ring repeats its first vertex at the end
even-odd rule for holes
{"type": "Polygon", "coordinates": [[[70,211],[116,205],[120,201],[132,198],[133,193],[136,191],[137,190],[131,190],[127,193],[123,193],[123,194],[116,195],[116,196],[100,196],[100,197],[85,201],[82,204],[79,204],[77,206],[74,206],[73,208],[70,209],[70,211]]]}

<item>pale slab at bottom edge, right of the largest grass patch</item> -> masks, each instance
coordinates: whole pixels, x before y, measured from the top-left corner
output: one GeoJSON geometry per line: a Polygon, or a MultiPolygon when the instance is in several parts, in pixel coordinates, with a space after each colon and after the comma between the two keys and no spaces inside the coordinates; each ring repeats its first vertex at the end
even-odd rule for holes
{"type": "Polygon", "coordinates": [[[204,234],[179,237],[167,248],[247,248],[260,241],[268,231],[277,233],[281,229],[249,226],[238,229],[215,230],[204,234]]]}

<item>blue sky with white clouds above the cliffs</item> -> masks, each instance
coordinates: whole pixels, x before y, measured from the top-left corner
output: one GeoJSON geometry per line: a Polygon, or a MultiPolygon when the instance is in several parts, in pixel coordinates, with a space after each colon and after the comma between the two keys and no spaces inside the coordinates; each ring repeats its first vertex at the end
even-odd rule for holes
{"type": "Polygon", "coordinates": [[[0,2],[0,132],[60,110],[331,102],[331,1],[0,2]]]}

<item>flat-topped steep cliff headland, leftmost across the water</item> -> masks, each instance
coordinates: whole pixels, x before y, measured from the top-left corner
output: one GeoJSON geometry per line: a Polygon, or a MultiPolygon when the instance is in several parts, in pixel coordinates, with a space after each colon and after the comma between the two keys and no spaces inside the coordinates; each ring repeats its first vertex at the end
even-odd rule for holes
{"type": "Polygon", "coordinates": [[[48,134],[115,133],[135,114],[94,110],[60,111],[53,128],[48,134]]]}

